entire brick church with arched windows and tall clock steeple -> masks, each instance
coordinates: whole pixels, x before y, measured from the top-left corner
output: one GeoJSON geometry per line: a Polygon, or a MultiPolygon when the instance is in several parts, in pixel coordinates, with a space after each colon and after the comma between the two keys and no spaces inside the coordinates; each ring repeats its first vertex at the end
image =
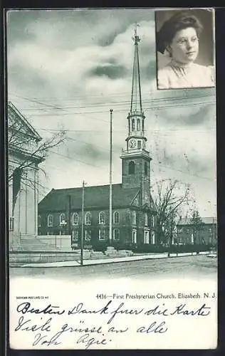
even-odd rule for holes
{"type": "Polygon", "coordinates": [[[97,250],[109,244],[115,248],[157,244],[157,211],[150,194],[152,158],[146,148],[142,110],[139,41],[135,31],[132,98],[126,145],[120,156],[122,182],[112,184],[111,224],[110,184],[52,189],[38,204],[39,235],[69,234],[73,244],[80,246],[83,230],[84,245],[97,250]]]}

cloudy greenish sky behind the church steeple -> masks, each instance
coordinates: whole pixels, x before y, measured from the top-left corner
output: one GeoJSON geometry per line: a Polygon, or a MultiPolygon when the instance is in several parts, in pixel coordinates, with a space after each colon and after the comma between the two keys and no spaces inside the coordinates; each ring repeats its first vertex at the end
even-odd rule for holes
{"type": "MultiPolygon", "coordinates": [[[[19,10],[7,16],[8,99],[43,137],[66,130],[41,167],[52,188],[121,182],[130,110],[135,22],[151,185],[190,184],[201,216],[216,215],[214,88],[157,90],[152,9],[19,10]]],[[[182,189],[182,188],[181,188],[182,189]]]]}

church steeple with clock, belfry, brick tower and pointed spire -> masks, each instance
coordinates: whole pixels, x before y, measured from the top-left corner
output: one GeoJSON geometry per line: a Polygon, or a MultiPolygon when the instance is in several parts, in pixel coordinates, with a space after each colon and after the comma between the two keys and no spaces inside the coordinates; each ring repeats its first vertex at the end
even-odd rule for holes
{"type": "Polygon", "coordinates": [[[150,186],[150,152],[146,150],[145,144],[145,115],[142,110],[142,92],[140,80],[140,63],[138,43],[140,37],[137,35],[137,23],[135,36],[132,38],[135,45],[134,61],[132,68],[132,92],[130,112],[127,116],[128,132],[127,147],[122,150],[122,184],[125,188],[142,187],[142,196],[147,187],[150,186]],[[146,187],[144,189],[144,187],[146,187]]]}

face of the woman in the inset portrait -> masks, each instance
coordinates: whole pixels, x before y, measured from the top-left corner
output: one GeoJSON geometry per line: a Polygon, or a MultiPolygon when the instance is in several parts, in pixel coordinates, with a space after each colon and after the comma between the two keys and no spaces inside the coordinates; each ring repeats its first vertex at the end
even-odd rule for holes
{"type": "Polygon", "coordinates": [[[177,31],[168,51],[179,63],[188,64],[195,61],[199,53],[199,38],[195,28],[188,27],[177,31]]]}

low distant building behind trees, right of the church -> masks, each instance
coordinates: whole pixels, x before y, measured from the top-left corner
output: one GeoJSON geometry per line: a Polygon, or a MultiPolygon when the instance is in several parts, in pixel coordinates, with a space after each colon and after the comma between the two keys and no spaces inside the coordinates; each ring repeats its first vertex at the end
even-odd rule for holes
{"type": "Polygon", "coordinates": [[[177,224],[177,242],[179,244],[217,244],[216,218],[201,218],[199,226],[191,224],[190,219],[180,219],[177,224]]]}

